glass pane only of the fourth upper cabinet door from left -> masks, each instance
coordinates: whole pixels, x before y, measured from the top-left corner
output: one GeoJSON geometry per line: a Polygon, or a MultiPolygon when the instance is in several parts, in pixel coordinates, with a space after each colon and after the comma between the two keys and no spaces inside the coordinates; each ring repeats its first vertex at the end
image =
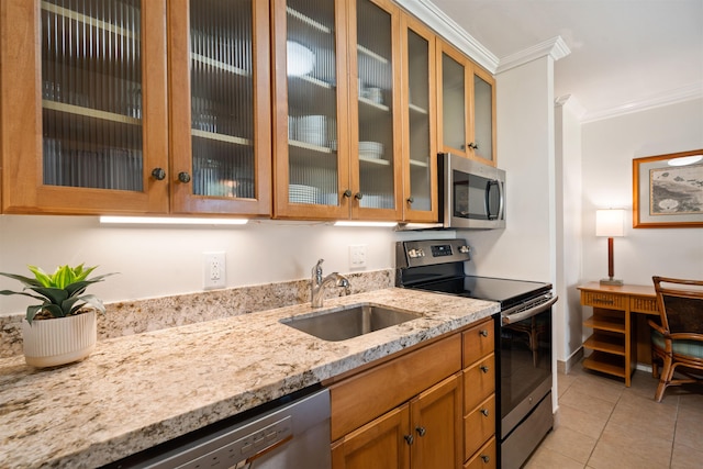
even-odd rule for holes
{"type": "Polygon", "coordinates": [[[393,209],[391,15],[357,1],[360,206],[393,209]]]}

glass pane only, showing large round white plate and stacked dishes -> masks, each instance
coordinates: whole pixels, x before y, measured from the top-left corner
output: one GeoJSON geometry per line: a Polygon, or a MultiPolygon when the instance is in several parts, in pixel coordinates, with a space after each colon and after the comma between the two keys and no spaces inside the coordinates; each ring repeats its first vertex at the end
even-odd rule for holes
{"type": "Polygon", "coordinates": [[[289,201],[337,205],[334,0],[287,5],[289,201]]]}

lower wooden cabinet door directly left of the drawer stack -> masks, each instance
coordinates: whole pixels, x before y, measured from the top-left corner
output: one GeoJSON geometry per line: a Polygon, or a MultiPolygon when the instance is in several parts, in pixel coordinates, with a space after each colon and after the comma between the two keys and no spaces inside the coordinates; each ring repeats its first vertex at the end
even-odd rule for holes
{"type": "Polygon", "coordinates": [[[411,401],[411,467],[461,465],[461,379],[454,375],[411,401]]]}

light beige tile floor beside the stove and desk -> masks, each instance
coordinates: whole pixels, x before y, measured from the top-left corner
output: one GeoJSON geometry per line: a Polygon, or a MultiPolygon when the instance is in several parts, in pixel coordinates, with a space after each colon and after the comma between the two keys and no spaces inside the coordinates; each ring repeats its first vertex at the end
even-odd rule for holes
{"type": "Polygon", "coordinates": [[[624,380],[584,370],[558,376],[555,428],[525,469],[703,468],[703,386],[670,387],[636,371],[624,380]]]}

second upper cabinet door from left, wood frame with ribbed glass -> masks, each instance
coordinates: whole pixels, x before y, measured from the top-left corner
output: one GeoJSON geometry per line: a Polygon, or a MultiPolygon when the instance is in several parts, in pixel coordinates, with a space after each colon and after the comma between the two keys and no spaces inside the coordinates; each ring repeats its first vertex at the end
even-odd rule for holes
{"type": "Polygon", "coordinates": [[[269,7],[168,2],[171,213],[271,213],[269,7]]]}

